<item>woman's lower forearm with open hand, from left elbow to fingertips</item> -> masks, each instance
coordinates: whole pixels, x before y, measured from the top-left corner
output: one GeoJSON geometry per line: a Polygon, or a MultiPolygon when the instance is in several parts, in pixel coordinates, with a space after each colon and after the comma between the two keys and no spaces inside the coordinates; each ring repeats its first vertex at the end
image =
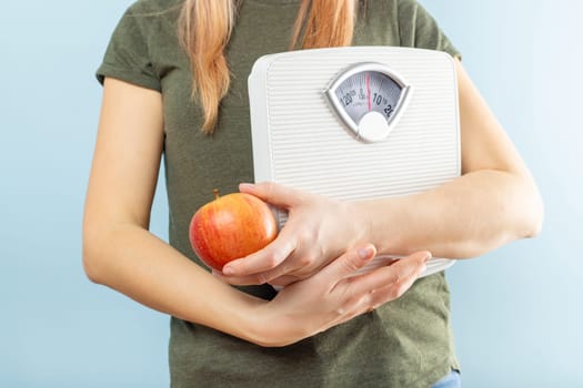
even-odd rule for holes
{"type": "Polygon", "coordinates": [[[355,247],[267,302],[222,283],[137,225],[84,238],[86,272],[96,283],[157,310],[267,347],[296,343],[400,297],[429,258],[419,252],[349,279],[375,254],[370,244],[355,247]]]}

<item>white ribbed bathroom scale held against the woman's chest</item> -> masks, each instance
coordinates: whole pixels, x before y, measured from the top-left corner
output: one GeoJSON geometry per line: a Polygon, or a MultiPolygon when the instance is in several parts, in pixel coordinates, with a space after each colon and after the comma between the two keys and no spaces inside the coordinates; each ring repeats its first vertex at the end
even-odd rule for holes
{"type": "MultiPolygon", "coordinates": [[[[265,55],[249,76],[249,103],[255,182],[356,201],[415,194],[461,174],[448,53],[350,47],[265,55]]],[[[287,214],[275,215],[281,227],[287,214]]],[[[379,255],[363,270],[395,257],[379,255]]],[[[432,258],[422,276],[453,263],[432,258]]]]}

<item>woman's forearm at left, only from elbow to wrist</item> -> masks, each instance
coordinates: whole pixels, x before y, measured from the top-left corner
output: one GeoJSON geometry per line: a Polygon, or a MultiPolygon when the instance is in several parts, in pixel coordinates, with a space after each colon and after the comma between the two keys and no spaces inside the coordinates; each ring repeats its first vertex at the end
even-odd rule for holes
{"type": "Polygon", "coordinates": [[[265,303],[238,292],[137,225],[86,233],[83,264],[91,280],[184,320],[260,343],[250,312],[265,303]]]}

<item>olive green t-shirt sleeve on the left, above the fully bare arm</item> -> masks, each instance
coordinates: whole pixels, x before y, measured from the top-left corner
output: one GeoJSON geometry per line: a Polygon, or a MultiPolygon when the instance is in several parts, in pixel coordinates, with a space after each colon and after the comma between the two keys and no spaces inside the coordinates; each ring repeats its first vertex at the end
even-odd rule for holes
{"type": "Polygon", "coordinates": [[[133,7],[125,11],[97,70],[100,83],[110,76],[138,86],[161,90],[160,76],[149,55],[148,37],[143,31],[144,19],[133,7]]]}

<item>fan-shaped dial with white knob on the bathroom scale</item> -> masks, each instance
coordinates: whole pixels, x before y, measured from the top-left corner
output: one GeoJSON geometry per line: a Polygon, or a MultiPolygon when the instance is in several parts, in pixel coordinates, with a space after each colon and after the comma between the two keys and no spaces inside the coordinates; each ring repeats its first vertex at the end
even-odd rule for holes
{"type": "Polygon", "coordinates": [[[324,91],[344,125],[365,142],[385,140],[411,96],[411,85],[382,63],[358,63],[324,91]]]}

